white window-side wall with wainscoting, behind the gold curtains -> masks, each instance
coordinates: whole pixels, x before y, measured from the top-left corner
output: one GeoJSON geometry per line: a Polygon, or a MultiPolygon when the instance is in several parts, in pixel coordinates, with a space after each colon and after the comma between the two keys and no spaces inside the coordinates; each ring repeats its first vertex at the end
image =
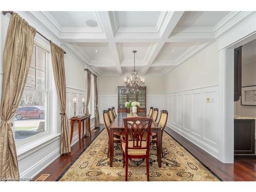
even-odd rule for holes
{"type": "MultiPolygon", "coordinates": [[[[47,36],[48,38],[52,39],[58,45],[61,45],[62,42],[57,39],[54,34],[49,32],[48,29],[44,28],[43,25],[39,22],[39,20],[35,19],[31,14],[25,12],[19,12],[23,18],[25,18],[30,25],[35,27],[39,32],[47,36]]],[[[4,16],[0,14],[0,85],[2,87],[2,76],[3,76],[3,49],[5,43],[5,36],[9,24],[9,17],[10,15],[7,14],[4,16]]],[[[50,50],[49,43],[44,41],[40,36],[36,35],[36,39],[45,46],[48,46],[48,50],[50,50]]],[[[66,113],[68,118],[73,116],[74,113],[74,103],[71,102],[73,95],[77,95],[78,99],[81,101],[81,97],[84,95],[85,87],[85,73],[84,68],[86,67],[79,59],[77,59],[69,50],[63,47],[67,54],[65,55],[65,68],[66,68],[66,86],[67,86],[67,109],[66,113]]],[[[0,89],[0,95],[2,95],[2,88],[0,89]]],[[[56,92],[56,91],[55,91],[56,92]]],[[[51,103],[51,109],[55,106],[58,109],[57,99],[51,103]],[[55,105],[55,106],[54,106],[55,105]]],[[[81,114],[80,107],[82,103],[78,103],[77,112],[81,114]]],[[[48,166],[51,162],[53,162],[56,158],[60,156],[59,153],[59,112],[57,110],[56,114],[51,114],[51,116],[56,117],[56,126],[51,127],[53,132],[51,132],[48,136],[44,136],[38,140],[31,141],[27,143],[25,146],[17,147],[17,158],[18,158],[18,166],[19,166],[19,173],[20,177],[34,177],[37,175],[42,169],[48,166]]],[[[94,127],[94,119],[91,121],[91,129],[94,127]]],[[[75,127],[77,130],[77,127],[75,127]]],[[[72,145],[78,141],[77,131],[74,132],[72,145]]]]}

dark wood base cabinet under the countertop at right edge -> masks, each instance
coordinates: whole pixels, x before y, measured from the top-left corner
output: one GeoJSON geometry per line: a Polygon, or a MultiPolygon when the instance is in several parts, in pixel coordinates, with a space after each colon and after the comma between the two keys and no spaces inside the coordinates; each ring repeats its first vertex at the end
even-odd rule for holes
{"type": "Polygon", "coordinates": [[[255,154],[255,119],[234,119],[234,157],[255,154]]]}

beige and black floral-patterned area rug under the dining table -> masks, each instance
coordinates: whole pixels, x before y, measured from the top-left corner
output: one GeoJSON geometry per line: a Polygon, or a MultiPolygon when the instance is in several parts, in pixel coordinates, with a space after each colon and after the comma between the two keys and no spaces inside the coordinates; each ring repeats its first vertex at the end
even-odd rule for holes
{"type": "MultiPolygon", "coordinates": [[[[60,181],[124,181],[122,151],[115,144],[113,167],[109,167],[108,134],[103,130],[67,170],[60,181]]],[[[219,181],[204,165],[167,133],[163,135],[162,167],[158,167],[156,145],[151,147],[150,181],[219,181]]],[[[129,181],[146,181],[144,159],[130,159],[129,181]]]]}

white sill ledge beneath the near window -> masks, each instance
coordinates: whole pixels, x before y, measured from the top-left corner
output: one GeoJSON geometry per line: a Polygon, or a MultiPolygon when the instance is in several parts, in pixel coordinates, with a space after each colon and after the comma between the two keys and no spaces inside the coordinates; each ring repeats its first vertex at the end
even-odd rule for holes
{"type": "Polygon", "coordinates": [[[40,148],[52,143],[53,141],[59,139],[60,133],[58,134],[48,134],[39,139],[35,139],[26,144],[17,147],[17,158],[21,160],[28,155],[40,150],[40,148]]]}

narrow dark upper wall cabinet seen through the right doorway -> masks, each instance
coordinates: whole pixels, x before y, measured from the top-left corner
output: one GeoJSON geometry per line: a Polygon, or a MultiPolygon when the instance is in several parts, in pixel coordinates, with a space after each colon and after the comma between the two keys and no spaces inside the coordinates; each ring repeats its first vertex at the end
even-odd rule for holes
{"type": "Polygon", "coordinates": [[[234,49],[234,101],[240,99],[242,93],[242,46],[234,49]]]}

